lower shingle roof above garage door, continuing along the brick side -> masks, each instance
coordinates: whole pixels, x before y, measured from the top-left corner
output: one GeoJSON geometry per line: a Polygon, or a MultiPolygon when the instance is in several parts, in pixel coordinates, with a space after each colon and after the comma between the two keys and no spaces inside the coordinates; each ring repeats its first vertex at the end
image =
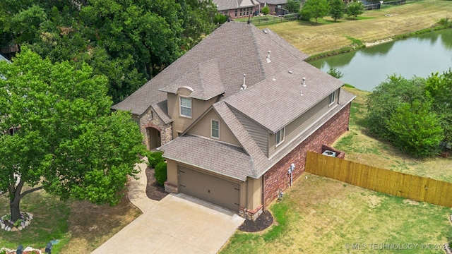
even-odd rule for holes
{"type": "Polygon", "coordinates": [[[296,138],[290,141],[287,140],[288,142],[284,144],[285,146],[270,158],[263,154],[262,150],[251,138],[248,131],[240,124],[225,102],[218,102],[213,105],[213,108],[234,133],[243,149],[220,143],[217,140],[186,134],[163,145],[159,150],[165,151],[163,156],[168,159],[224,174],[234,179],[244,181],[246,176],[258,179],[297,145],[302,143],[303,140],[308,138],[309,135],[323,126],[326,121],[346,107],[352,99],[355,99],[355,95],[345,90],[340,90],[339,103],[335,107],[323,114],[316,123],[309,126],[296,138]]]}

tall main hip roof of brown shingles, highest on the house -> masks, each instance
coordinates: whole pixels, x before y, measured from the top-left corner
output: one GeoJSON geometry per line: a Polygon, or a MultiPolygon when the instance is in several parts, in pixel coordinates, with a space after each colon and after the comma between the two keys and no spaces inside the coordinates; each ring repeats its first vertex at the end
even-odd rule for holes
{"type": "Polygon", "coordinates": [[[239,92],[243,74],[249,87],[306,58],[307,54],[268,29],[263,32],[252,24],[228,22],[112,109],[141,115],[150,105],[166,99],[165,92],[159,90],[174,92],[175,83],[196,87],[194,93],[199,98],[222,92],[228,97],[239,92]],[[275,52],[270,59],[278,64],[267,63],[269,50],[275,52]]]}

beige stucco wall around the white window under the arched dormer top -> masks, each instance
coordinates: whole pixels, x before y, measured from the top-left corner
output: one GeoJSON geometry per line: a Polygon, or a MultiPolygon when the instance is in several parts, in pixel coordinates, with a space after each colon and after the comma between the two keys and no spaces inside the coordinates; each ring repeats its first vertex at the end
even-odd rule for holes
{"type": "Polygon", "coordinates": [[[173,138],[176,138],[178,133],[185,131],[204,111],[206,111],[216,101],[216,97],[203,101],[201,99],[191,99],[191,117],[181,116],[179,109],[179,97],[189,97],[191,90],[184,87],[179,88],[177,95],[167,93],[168,99],[168,114],[173,120],[173,138]]]}

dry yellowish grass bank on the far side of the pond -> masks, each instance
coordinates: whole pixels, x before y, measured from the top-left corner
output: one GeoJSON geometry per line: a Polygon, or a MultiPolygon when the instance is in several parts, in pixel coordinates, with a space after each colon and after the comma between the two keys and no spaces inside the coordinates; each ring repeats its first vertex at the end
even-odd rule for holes
{"type": "Polygon", "coordinates": [[[325,20],[332,19],[324,17],[318,20],[318,24],[290,21],[267,26],[302,52],[316,55],[347,49],[350,47],[347,37],[370,44],[397,35],[430,30],[451,13],[452,1],[424,0],[365,11],[357,20],[345,18],[337,23],[326,23],[325,20]]]}

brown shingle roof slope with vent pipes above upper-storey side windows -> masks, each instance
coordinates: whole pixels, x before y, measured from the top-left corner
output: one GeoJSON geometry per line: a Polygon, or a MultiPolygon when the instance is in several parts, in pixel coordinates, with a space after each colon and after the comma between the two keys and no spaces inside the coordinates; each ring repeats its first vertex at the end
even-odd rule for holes
{"type": "MultiPolygon", "coordinates": [[[[274,59],[270,64],[277,65],[278,61],[274,59]]],[[[225,99],[231,107],[272,133],[343,85],[342,81],[304,61],[295,61],[291,67],[278,71],[271,78],[225,99]],[[302,85],[302,78],[306,78],[306,87],[302,85]]]]}

